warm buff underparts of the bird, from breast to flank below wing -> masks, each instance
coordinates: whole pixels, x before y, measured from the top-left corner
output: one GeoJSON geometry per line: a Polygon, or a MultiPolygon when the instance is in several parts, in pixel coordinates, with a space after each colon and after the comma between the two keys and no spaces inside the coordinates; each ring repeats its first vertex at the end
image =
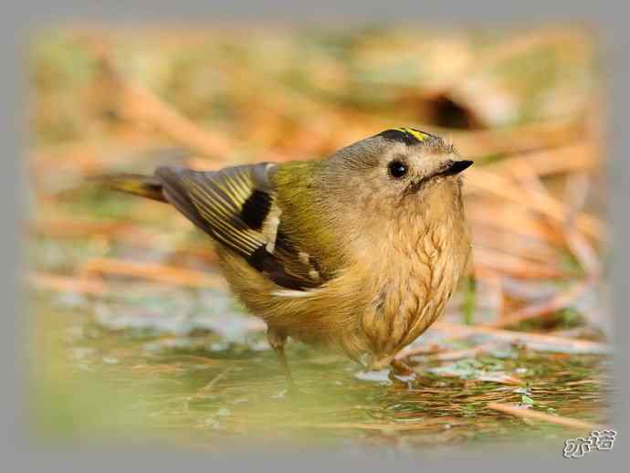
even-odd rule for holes
{"type": "MultiPolygon", "coordinates": [[[[469,248],[461,241],[460,247],[469,248]]],[[[456,243],[425,244],[406,258],[388,258],[381,268],[352,267],[312,297],[274,296],[278,287],[240,258],[224,256],[223,263],[230,267],[231,288],[269,328],[300,342],[339,348],[378,368],[444,311],[467,260],[456,243]]]]}

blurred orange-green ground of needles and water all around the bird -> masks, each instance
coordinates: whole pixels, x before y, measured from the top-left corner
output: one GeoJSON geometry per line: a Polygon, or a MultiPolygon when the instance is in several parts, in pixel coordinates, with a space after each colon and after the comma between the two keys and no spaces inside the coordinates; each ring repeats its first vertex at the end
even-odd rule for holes
{"type": "Polygon", "coordinates": [[[610,421],[605,69],[590,29],[83,25],[31,39],[38,437],[560,452],[610,421]],[[476,163],[474,271],[400,354],[413,384],[292,343],[310,394],[290,399],[208,238],[167,205],[86,183],[165,163],[323,158],[398,126],[476,163]]]}

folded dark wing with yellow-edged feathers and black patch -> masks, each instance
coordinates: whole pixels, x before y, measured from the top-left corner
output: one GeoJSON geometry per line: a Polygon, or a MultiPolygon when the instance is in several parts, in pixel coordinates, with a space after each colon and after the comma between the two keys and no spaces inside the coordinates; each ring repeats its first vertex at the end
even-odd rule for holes
{"type": "Polygon", "coordinates": [[[323,282],[317,261],[278,232],[281,209],[271,179],[275,164],[216,172],[160,167],[164,197],[215,241],[236,252],[278,286],[314,289],[323,282]]]}

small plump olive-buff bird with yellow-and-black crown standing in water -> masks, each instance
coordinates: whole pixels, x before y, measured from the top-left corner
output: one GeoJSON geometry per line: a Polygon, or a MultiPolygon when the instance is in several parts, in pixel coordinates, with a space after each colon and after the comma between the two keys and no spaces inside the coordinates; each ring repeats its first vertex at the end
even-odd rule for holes
{"type": "Polygon", "coordinates": [[[214,240],[290,387],[288,338],[367,370],[408,368],[396,354],[444,313],[470,262],[461,173],[472,163],[443,138],[401,127],[325,159],[160,166],[100,181],[173,205],[214,240]]]}

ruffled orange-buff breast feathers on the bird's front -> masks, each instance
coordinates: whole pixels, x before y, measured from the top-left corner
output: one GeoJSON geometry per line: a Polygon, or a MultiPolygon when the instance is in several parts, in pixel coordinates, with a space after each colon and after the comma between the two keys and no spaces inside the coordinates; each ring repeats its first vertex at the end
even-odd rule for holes
{"type": "Polygon", "coordinates": [[[389,242],[373,271],[375,297],[362,315],[368,364],[389,363],[443,313],[469,248],[467,228],[455,218],[389,242]]]}

